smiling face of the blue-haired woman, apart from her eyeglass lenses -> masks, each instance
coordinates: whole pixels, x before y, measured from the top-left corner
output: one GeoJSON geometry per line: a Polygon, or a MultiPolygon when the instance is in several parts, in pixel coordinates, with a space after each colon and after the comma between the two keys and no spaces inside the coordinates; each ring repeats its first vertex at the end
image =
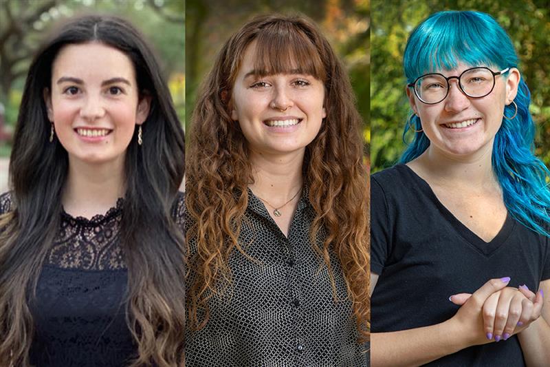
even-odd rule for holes
{"type": "MultiPolygon", "coordinates": [[[[438,72],[446,77],[459,76],[470,67],[459,63],[453,70],[438,72]]],[[[492,66],[489,69],[499,71],[492,66]]],[[[434,105],[422,103],[407,88],[410,105],[420,117],[423,132],[430,140],[430,152],[452,157],[492,154],[504,106],[516,97],[519,80],[518,70],[511,68],[507,74],[495,76],[494,89],[487,96],[470,98],[459,90],[457,80],[453,78],[449,81],[448,96],[434,105]]]]}

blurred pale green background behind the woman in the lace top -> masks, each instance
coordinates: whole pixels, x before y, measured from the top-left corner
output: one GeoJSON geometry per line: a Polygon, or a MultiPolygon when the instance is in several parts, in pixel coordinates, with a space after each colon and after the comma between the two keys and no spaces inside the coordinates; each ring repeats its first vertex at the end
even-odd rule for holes
{"type": "Polygon", "coordinates": [[[89,13],[122,17],[144,34],[157,55],[177,114],[183,121],[184,0],[0,0],[0,102],[6,107],[8,129],[17,121],[25,76],[34,52],[58,23],[89,13]]]}

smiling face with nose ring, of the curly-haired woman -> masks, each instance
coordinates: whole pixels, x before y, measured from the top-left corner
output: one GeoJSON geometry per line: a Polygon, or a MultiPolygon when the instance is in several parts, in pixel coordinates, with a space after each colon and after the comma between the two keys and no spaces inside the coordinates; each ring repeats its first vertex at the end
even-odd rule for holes
{"type": "Polygon", "coordinates": [[[327,116],[325,86],[309,74],[261,76],[254,70],[255,42],[248,45],[232,90],[231,117],[248,147],[260,154],[303,154],[327,116]]]}

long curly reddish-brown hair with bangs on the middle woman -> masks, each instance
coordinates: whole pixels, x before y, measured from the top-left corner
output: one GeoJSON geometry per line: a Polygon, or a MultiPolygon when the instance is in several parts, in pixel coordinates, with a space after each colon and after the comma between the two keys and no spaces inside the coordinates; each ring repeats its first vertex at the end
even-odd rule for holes
{"type": "MultiPolygon", "coordinates": [[[[304,181],[316,213],[311,244],[325,262],[336,297],[329,253],[336,253],[362,339],[369,339],[369,182],[363,158],[362,121],[344,67],[329,41],[300,16],[256,18],[223,45],[204,81],[192,116],[186,162],[187,240],[196,244],[188,259],[188,326],[208,322],[208,299],[231,281],[228,258],[239,246],[241,222],[254,182],[248,145],[231,119],[232,87],[248,46],[255,41],[254,70],[261,75],[309,74],[325,85],[327,117],[307,146],[304,181]],[[322,246],[314,240],[324,227],[322,246]]],[[[189,243],[189,242],[188,242],[189,243]]]]}

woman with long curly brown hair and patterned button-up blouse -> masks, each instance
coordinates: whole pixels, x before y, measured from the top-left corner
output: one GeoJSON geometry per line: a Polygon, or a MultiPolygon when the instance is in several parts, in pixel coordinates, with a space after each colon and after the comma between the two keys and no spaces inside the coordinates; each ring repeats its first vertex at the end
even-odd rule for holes
{"type": "Polygon", "coordinates": [[[223,45],[186,162],[188,367],[368,363],[360,127],[307,19],[260,17],[223,45]]]}

